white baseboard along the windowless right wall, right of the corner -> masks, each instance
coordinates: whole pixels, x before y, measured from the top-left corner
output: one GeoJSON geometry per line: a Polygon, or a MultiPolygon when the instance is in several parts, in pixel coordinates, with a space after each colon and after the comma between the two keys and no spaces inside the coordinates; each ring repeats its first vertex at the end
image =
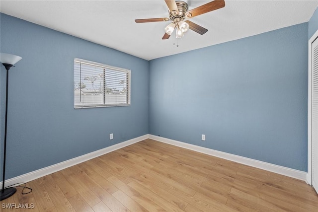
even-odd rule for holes
{"type": "Polygon", "coordinates": [[[274,172],[277,174],[296,178],[299,180],[306,181],[306,179],[307,179],[307,172],[304,172],[304,171],[299,171],[296,169],[291,169],[291,168],[287,168],[284,166],[279,166],[279,165],[275,165],[275,164],[255,160],[255,159],[250,159],[247,157],[242,157],[239,155],[230,154],[230,153],[226,153],[226,152],[222,152],[222,151],[218,151],[218,150],[214,150],[214,149],[210,149],[210,148],[206,148],[206,147],[202,147],[202,146],[197,146],[197,145],[193,145],[193,144],[189,144],[189,143],[185,143],[185,142],[166,139],[166,138],[162,138],[159,136],[149,135],[149,139],[168,143],[171,145],[179,146],[179,147],[190,149],[190,150],[194,150],[194,151],[201,152],[204,154],[224,158],[227,160],[235,161],[235,162],[238,162],[238,163],[241,163],[244,165],[252,166],[255,168],[259,168],[259,169],[264,169],[264,170],[267,170],[270,172],[274,172]]]}

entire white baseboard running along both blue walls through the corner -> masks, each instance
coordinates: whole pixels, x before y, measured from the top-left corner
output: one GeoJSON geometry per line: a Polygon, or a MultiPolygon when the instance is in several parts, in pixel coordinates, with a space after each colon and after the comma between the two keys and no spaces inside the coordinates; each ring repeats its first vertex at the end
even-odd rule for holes
{"type": "MultiPolygon", "coordinates": [[[[175,140],[166,139],[166,138],[162,138],[159,136],[147,134],[147,135],[144,135],[141,137],[137,137],[135,139],[123,141],[121,143],[117,143],[115,145],[108,146],[106,148],[99,149],[97,151],[93,151],[93,152],[81,155],[79,157],[72,158],[70,160],[63,161],[61,163],[57,163],[57,164],[54,164],[54,165],[51,165],[51,166],[48,166],[48,167],[45,167],[42,169],[38,169],[38,170],[35,170],[32,172],[11,178],[11,179],[7,179],[5,181],[5,186],[10,186],[10,185],[13,185],[16,183],[21,183],[21,182],[29,182],[29,181],[38,179],[38,178],[43,177],[45,175],[52,174],[54,172],[57,172],[57,171],[60,171],[62,169],[65,169],[65,168],[74,166],[76,164],[85,162],[87,160],[90,160],[90,159],[98,157],[100,155],[109,153],[111,151],[115,151],[117,149],[123,148],[123,147],[131,145],[133,143],[143,141],[145,139],[152,139],[155,141],[168,143],[171,145],[194,150],[194,151],[201,152],[204,154],[208,154],[208,155],[224,158],[227,160],[235,161],[235,162],[245,164],[248,166],[264,169],[267,171],[275,172],[275,173],[282,174],[282,175],[289,176],[289,177],[293,177],[293,178],[300,179],[303,181],[306,181],[307,174],[308,174],[307,172],[287,168],[284,166],[266,163],[266,162],[262,162],[259,160],[254,160],[254,159],[250,159],[247,157],[238,156],[235,154],[230,154],[230,153],[226,153],[226,152],[222,152],[222,151],[218,151],[218,150],[214,150],[214,149],[210,149],[210,148],[206,148],[206,147],[202,147],[202,146],[197,146],[197,145],[193,145],[193,144],[189,144],[189,143],[185,143],[185,142],[181,142],[181,141],[175,141],[175,140]]],[[[2,187],[2,182],[0,182],[0,187],[2,187]]]]}

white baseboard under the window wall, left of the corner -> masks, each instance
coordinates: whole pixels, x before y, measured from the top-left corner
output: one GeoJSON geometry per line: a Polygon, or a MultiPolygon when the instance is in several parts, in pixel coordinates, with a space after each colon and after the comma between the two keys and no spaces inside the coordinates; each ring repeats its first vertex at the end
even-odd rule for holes
{"type": "MultiPolygon", "coordinates": [[[[117,143],[117,144],[114,144],[112,146],[108,146],[106,148],[102,148],[102,149],[81,155],[79,157],[72,158],[70,160],[63,161],[61,163],[57,163],[57,164],[54,164],[54,165],[51,165],[51,166],[48,166],[48,167],[45,167],[42,169],[38,169],[38,170],[23,174],[23,175],[20,175],[17,177],[10,178],[10,179],[5,180],[4,186],[10,186],[10,185],[13,185],[16,183],[21,183],[21,182],[29,182],[29,181],[38,179],[40,177],[43,177],[45,175],[52,174],[52,173],[60,171],[62,169],[65,169],[65,168],[74,166],[76,164],[85,162],[87,160],[98,157],[100,155],[109,153],[111,151],[115,151],[117,149],[123,148],[123,147],[131,145],[133,143],[143,141],[143,140],[148,139],[148,138],[149,138],[149,135],[147,134],[147,135],[144,135],[141,137],[137,137],[137,138],[134,138],[134,139],[131,139],[128,141],[123,141],[121,143],[117,143]]],[[[0,187],[2,187],[2,181],[0,182],[0,187]]]]}

